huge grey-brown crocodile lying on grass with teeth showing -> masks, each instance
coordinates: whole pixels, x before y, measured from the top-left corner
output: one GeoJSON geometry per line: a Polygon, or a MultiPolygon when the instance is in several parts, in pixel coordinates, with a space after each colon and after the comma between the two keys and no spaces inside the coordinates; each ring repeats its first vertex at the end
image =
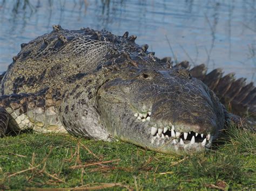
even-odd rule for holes
{"type": "Polygon", "coordinates": [[[230,121],[227,101],[255,110],[252,83],[222,77],[219,69],[206,74],[205,65],[188,69],[187,61],[173,66],[136,38],[53,25],[52,32],[21,44],[1,82],[1,136],[29,129],[69,132],[191,153],[221,135],[230,121]],[[202,80],[223,95],[223,103],[202,80]]]}

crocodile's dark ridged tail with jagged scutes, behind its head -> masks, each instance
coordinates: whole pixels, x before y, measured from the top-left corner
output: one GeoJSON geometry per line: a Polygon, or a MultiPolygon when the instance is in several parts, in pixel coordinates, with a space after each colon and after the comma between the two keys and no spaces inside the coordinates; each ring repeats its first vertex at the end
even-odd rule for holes
{"type": "Polygon", "coordinates": [[[220,68],[207,74],[204,64],[190,69],[190,73],[213,90],[229,112],[239,116],[256,117],[256,88],[253,82],[246,83],[244,77],[235,79],[234,73],[223,75],[220,68]]]}

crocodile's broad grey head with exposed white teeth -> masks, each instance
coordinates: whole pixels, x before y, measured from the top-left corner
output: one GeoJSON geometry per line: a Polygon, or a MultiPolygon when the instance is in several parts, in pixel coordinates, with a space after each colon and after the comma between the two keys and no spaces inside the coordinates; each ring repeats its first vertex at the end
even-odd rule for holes
{"type": "Polygon", "coordinates": [[[204,150],[224,128],[218,98],[182,67],[130,67],[97,95],[107,131],[164,153],[204,150]]]}

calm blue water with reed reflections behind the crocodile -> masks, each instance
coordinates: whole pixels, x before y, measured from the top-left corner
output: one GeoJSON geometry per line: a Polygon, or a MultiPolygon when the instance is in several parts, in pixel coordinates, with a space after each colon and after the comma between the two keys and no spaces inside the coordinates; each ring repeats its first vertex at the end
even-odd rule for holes
{"type": "Polygon", "coordinates": [[[256,1],[0,0],[0,71],[21,43],[52,30],[91,27],[138,36],[156,56],[206,63],[256,81],[256,1]],[[170,45],[168,43],[168,40],[170,45]]]}

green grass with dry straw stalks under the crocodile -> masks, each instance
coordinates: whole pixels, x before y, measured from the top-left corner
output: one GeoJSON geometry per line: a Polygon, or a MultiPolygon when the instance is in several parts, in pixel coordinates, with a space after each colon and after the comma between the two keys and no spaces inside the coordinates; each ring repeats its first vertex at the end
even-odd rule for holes
{"type": "Polygon", "coordinates": [[[68,135],[5,137],[0,189],[253,189],[255,140],[254,133],[231,126],[213,150],[176,156],[68,135]]]}

